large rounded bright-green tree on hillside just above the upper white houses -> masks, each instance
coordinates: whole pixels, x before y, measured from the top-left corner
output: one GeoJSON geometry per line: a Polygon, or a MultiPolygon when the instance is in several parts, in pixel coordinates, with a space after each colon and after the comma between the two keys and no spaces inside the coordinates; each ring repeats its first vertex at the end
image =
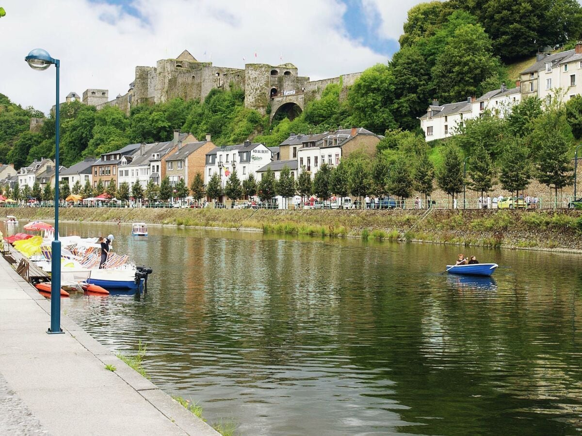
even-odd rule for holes
{"type": "Polygon", "coordinates": [[[499,76],[499,70],[501,63],[493,55],[491,40],[484,29],[466,24],[455,31],[437,55],[432,84],[442,101],[463,101],[489,91],[480,85],[491,76],[499,76]]]}

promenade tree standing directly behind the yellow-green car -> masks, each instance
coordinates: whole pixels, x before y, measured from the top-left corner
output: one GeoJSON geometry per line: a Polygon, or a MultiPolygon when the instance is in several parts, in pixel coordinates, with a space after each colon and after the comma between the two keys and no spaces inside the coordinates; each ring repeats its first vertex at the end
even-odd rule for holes
{"type": "Polygon", "coordinates": [[[501,156],[501,171],[499,183],[504,190],[515,192],[526,189],[531,177],[531,162],[527,156],[527,149],[513,138],[505,145],[501,156]]]}

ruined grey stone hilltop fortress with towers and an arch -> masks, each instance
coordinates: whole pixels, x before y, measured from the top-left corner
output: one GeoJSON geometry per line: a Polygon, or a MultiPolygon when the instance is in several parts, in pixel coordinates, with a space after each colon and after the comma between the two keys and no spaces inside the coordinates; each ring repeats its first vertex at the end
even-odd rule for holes
{"type": "MultiPolygon", "coordinates": [[[[337,83],[343,88],[352,85],[361,73],[345,74],[324,80],[310,81],[299,76],[292,63],[265,65],[249,63],[244,69],[217,67],[212,62],[198,62],[187,50],[176,59],[158,60],[155,67],[136,67],[136,77],[125,95],[109,100],[108,90],[88,89],[83,92],[83,103],[102,109],[118,106],[129,115],[133,106],[152,104],[182,98],[204,101],[214,89],[244,91],[244,105],[262,114],[271,109],[271,119],[285,115],[290,119],[301,113],[311,99],[321,97],[328,84],[337,83]]],[[[80,99],[70,92],[66,101],[80,99]]]]}

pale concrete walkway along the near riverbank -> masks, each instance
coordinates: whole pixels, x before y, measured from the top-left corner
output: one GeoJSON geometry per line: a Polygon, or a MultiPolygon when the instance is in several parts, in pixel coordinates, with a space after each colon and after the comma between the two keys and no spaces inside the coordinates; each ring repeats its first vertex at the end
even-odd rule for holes
{"type": "Polygon", "coordinates": [[[68,317],[45,333],[49,312],[0,257],[0,434],[218,435],[68,317]]]}

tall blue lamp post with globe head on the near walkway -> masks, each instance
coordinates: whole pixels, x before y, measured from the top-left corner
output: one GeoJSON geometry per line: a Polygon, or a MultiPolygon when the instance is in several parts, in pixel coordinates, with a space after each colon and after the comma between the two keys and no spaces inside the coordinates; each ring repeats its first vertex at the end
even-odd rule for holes
{"type": "Polygon", "coordinates": [[[61,61],[51,58],[46,50],[36,48],[26,58],[33,70],[46,70],[56,67],[56,106],[55,106],[55,240],[52,241],[51,263],[51,327],[48,334],[63,333],[61,329],[61,241],[59,241],[59,67],[61,61]]]}

